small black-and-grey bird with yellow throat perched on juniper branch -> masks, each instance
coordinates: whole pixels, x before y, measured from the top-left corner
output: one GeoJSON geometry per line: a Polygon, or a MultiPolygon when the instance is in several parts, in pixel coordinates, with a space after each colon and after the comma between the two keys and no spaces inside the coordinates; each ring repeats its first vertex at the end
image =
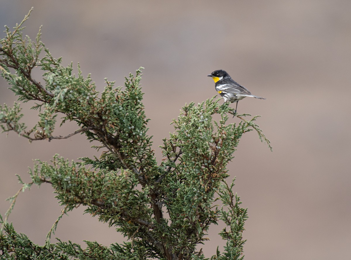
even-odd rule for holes
{"type": "Polygon", "coordinates": [[[235,82],[224,70],[215,70],[207,76],[213,78],[214,83],[216,83],[214,87],[216,88],[218,94],[224,98],[224,102],[237,102],[234,113],[237,112],[238,101],[242,100],[244,97],[265,99],[264,97],[252,95],[248,89],[235,82]]]}

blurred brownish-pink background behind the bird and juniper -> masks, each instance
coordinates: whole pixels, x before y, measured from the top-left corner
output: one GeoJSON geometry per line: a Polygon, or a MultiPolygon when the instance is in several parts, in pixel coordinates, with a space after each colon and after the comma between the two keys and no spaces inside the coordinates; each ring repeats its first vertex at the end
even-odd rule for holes
{"type": "MultiPolygon", "coordinates": [[[[213,70],[226,70],[267,98],[245,98],[238,112],[262,116],[257,123],[273,152],[252,131],[229,164],[231,177],[237,176],[234,189],[249,208],[245,259],[350,259],[351,1],[2,0],[0,25],[12,28],[32,6],[24,34],[34,39],[43,25],[42,41],[52,55],[62,56],[65,66],[79,62],[98,90],[105,77],[123,85],[124,76],[145,67],[144,104],[158,161],[158,146],[173,132],[169,123],[181,106],[216,95],[206,77],[213,70]]],[[[41,71],[34,73],[41,81],[41,71]]],[[[0,79],[0,104],[11,105],[16,98],[7,87],[0,79]]],[[[22,106],[28,126],[37,120],[31,105],[22,106]]],[[[76,129],[68,123],[54,134],[76,129]]],[[[0,135],[1,214],[9,207],[5,199],[20,189],[15,174],[29,182],[33,159],[55,153],[74,160],[97,155],[80,135],[32,144],[13,132],[0,135]]],[[[52,192],[42,185],[21,193],[9,218],[40,245],[62,209],[52,192]]],[[[55,236],[82,245],[123,241],[83,211],[64,216],[55,236]]],[[[221,228],[210,230],[207,257],[224,245],[221,228]]]]}

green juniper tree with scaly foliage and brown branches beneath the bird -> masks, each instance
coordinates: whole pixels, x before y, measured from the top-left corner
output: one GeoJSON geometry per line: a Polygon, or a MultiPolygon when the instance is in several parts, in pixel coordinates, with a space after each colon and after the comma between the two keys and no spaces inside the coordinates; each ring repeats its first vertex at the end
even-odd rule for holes
{"type": "Polygon", "coordinates": [[[257,117],[246,120],[243,117],[247,115],[236,115],[241,119],[238,124],[227,123],[233,109],[227,103],[220,105],[214,97],[185,105],[172,122],[175,131],[163,140],[164,158],[158,164],[142,103],[143,68],[126,77],[124,87],[114,87],[114,82],[105,79],[106,87],[99,93],[90,75],[82,76],[79,66],[75,75],[72,63],[64,67],[61,58],[51,56],[40,41],[40,30],[34,42],[28,36],[23,38],[22,23],[13,32],[6,27],[6,37],[0,40],[0,69],[18,101],[34,103],[38,122],[26,130],[20,122],[24,116],[20,104],[14,103],[13,108],[4,104],[0,107],[2,131],[14,131],[29,141],[80,133],[99,143],[93,147],[102,151],[99,158],[83,157],[81,162],[58,155],[51,162],[37,160],[29,170],[31,183],[23,183],[18,176],[22,187],[9,198],[10,209],[4,221],[1,218],[1,259],[24,259],[24,255],[32,259],[208,259],[199,244],[208,240],[208,228],[218,220],[227,226],[220,232],[226,246],[211,259],[242,259],[247,210],[233,194],[234,183],[229,187],[225,179],[229,176],[227,164],[245,132],[256,130],[261,141],[271,147],[254,123],[257,117]],[[44,71],[45,85],[32,78],[34,68],[44,71]],[[54,136],[58,114],[63,115],[61,125],[75,121],[79,129],[54,136]],[[218,122],[214,117],[220,118],[218,122]],[[49,231],[46,246],[41,247],[17,234],[7,218],[21,191],[43,183],[54,188],[64,210],[49,231]],[[214,205],[216,194],[221,208],[214,205]],[[51,244],[61,217],[80,205],[128,241],[110,247],[85,241],[85,249],[71,241],[51,244]]]}

